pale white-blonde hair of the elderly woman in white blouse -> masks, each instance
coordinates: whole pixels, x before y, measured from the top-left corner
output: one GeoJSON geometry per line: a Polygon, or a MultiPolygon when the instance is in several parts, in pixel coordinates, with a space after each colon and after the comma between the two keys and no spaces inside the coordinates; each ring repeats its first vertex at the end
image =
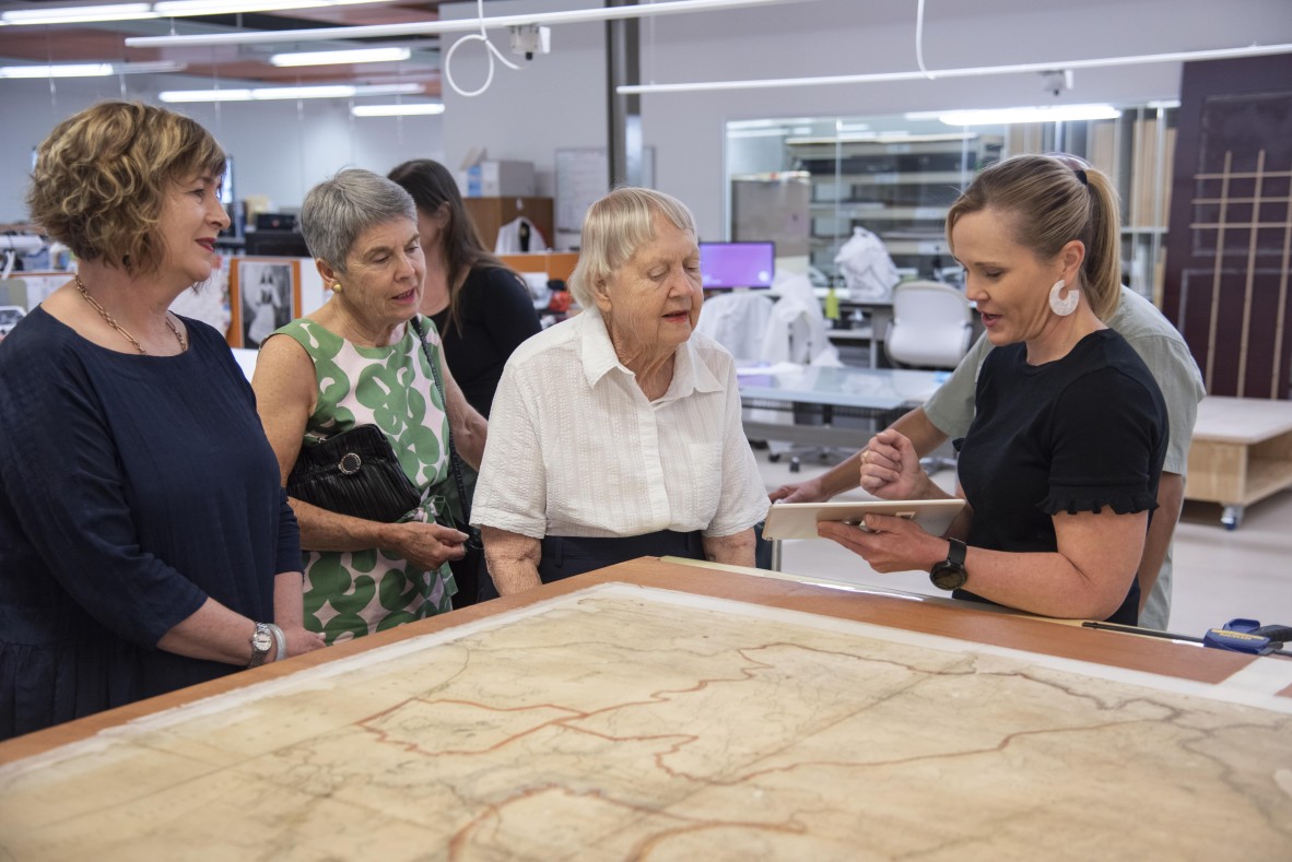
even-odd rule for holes
{"type": "Polygon", "coordinates": [[[570,293],[580,306],[594,307],[597,288],[627,263],[638,246],[655,237],[656,214],[696,236],[695,217],[686,204],[652,188],[615,188],[588,208],[579,263],[570,274],[570,293]]]}

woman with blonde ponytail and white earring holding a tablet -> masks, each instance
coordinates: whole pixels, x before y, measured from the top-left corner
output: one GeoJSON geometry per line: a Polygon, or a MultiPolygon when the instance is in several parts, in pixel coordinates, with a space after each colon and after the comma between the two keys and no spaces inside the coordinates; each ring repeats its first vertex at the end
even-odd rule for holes
{"type": "MultiPolygon", "coordinates": [[[[879,572],[929,570],[960,599],[1134,623],[1168,428],[1143,360],[1103,323],[1120,298],[1116,192],[1072,156],[1016,156],[964,191],[947,237],[996,347],[956,441],[965,514],[944,537],[877,515],[820,534],[879,572]]],[[[868,444],[860,484],[947,497],[893,430],[868,444]]]]}

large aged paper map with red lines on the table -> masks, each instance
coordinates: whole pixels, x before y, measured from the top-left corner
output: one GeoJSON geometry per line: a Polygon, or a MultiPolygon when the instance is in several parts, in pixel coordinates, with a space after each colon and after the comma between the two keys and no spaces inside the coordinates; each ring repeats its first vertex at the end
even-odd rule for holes
{"type": "Polygon", "coordinates": [[[583,590],[3,767],[0,859],[1292,858],[1287,711],[884,631],[583,590]]]}

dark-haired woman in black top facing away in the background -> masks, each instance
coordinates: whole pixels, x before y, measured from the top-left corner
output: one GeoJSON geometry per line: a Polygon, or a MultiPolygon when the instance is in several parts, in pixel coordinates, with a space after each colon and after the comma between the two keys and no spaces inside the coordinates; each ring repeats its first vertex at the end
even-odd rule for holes
{"type": "Polygon", "coordinates": [[[466,401],[488,418],[503,366],[543,326],[525,281],[488,253],[452,174],[430,159],[406,161],[389,174],[417,204],[426,256],[421,314],[435,323],[444,357],[466,401]]]}

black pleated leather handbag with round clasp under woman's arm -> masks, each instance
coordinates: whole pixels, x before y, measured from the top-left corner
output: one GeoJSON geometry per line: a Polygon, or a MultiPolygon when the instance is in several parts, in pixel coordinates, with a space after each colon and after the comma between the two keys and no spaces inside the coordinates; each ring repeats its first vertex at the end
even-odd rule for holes
{"type": "Polygon", "coordinates": [[[359,425],[301,448],[287,477],[287,494],[382,524],[398,521],[421,502],[390,440],[375,425],[359,425]]]}

